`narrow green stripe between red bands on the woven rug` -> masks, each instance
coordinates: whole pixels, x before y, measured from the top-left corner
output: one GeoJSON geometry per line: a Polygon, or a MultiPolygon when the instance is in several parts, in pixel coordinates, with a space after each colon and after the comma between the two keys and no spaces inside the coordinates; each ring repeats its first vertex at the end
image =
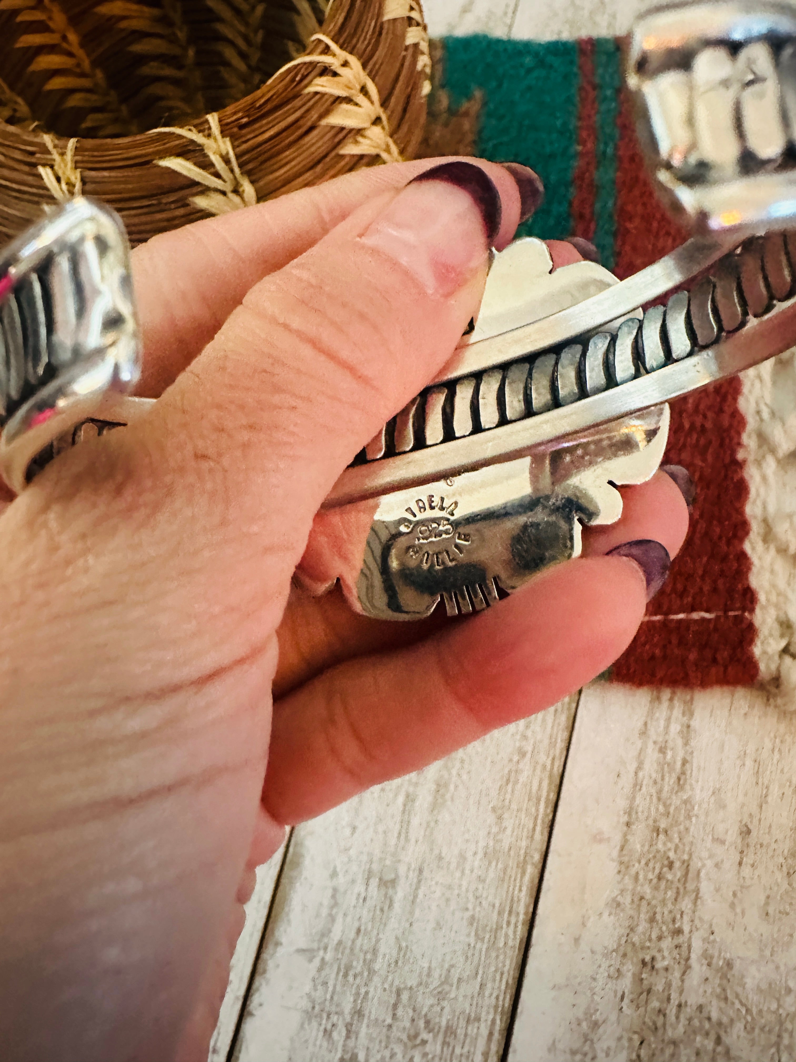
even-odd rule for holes
{"type": "Polygon", "coordinates": [[[596,172],[594,174],[594,245],[606,269],[613,269],[617,201],[617,144],[622,63],[612,37],[594,39],[596,83],[596,172]]]}

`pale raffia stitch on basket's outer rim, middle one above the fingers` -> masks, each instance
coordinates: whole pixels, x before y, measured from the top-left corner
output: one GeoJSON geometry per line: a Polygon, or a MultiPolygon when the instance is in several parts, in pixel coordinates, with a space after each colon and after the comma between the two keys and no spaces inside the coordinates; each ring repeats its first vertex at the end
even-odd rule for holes
{"type": "Polygon", "coordinates": [[[209,137],[204,136],[190,125],[185,129],[167,127],[151,132],[175,133],[177,136],[184,136],[187,140],[192,140],[202,148],[213,164],[218,176],[201,169],[195,162],[177,155],[156,158],[155,166],[163,166],[169,170],[174,170],[176,173],[181,173],[184,177],[189,177],[191,181],[210,188],[211,191],[202,192],[201,195],[192,195],[189,200],[200,210],[221,215],[241,210],[244,206],[254,206],[257,203],[257,192],[252,182],[238,166],[232,141],[229,137],[222,136],[219,116],[217,114],[208,115],[207,124],[210,126],[211,135],[209,137]]]}

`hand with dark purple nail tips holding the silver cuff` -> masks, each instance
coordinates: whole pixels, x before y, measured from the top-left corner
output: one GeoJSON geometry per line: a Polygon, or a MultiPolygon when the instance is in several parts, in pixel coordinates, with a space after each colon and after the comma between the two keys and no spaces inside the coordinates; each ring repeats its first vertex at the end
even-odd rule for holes
{"type": "Polygon", "coordinates": [[[142,388],[162,397],[0,517],[12,1058],[204,1058],[253,868],[284,824],[602,671],[647,597],[636,561],[604,554],[682,542],[659,474],[583,559],[468,620],[381,624],[291,590],[332,483],[450,356],[489,242],[520,218],[508,171],[479,164],[496,191],[471,171],[470,190],[408,185],[431,165],[139,249],[142,388]]]}

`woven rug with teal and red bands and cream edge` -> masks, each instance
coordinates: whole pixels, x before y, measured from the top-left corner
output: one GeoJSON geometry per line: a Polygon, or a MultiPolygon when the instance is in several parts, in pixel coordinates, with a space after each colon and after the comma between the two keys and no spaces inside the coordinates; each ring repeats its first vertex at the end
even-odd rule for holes
{"type": "MultiPolygon", "coordinates": [[[[547,198],[521,235],[586,237],[620,278],[687,238],[644,173],[620,41],[450,37],[433,53],[423,153],[532,166],[547,198]]],[[[665,461],[696,483],[691,530],[612,676],[796,689],[793,355],[673,402],[665,461]]]]}

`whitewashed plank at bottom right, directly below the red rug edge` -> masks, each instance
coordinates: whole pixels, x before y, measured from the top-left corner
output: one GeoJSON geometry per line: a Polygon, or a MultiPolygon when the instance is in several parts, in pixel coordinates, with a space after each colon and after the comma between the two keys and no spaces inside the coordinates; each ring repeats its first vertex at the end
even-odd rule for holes
{"type": "Polygon", "coordinates": [[[796,714],[588,688],[509,1062],[796,1059],[795,1015],[796,714]]]}

